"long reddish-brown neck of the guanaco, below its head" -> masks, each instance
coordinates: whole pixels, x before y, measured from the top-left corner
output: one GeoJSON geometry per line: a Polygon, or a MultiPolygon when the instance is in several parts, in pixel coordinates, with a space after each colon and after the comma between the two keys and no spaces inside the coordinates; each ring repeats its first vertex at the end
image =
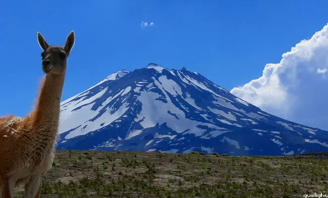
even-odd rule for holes
{"type": "Polygon", "coordinates": [[[57,134],[64,81],[65,73],[46,75],[43,78],[39,98],[33,112],[33,126],[36,131],[57,134]]]}

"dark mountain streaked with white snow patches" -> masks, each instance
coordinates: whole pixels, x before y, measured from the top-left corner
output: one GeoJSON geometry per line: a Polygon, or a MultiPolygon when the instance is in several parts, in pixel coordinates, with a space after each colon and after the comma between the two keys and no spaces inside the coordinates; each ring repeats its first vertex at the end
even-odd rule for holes
{"type": "Polygon", "coordinates": [[[154,63],[118,71],[63,101],[59,130],[58,149],[230,155],[328,151],[328,131],[268,114],[196,72],[154,63]]]}

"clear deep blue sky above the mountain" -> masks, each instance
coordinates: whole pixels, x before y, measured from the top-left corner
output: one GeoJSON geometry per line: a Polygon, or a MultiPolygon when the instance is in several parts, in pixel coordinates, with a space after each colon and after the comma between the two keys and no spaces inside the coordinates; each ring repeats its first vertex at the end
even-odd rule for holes
{"type": "Polygon", "coordinates": [[[62,100],[149,62],[186,67],[231,90],[321,30],[326,8],[324,1],[2,1],[0,115],[32,109],[44,75],[37,31],[52,45],[75,31],[62,100]]]}

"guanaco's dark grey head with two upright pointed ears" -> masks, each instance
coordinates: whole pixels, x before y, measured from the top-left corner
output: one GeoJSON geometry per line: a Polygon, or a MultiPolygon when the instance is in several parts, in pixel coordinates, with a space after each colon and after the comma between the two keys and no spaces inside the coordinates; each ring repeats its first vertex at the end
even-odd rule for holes
{"type": "Polygon", "coordinates": [[[49,45],[40,32],[37,33],[37,40],[40,47],[43,49],[41,53],[43,72],[47,75],[60,75],[65,73],[67,58],[70,55],[75,41],[74,31],[68,35],[64,47],[49,45]]]}

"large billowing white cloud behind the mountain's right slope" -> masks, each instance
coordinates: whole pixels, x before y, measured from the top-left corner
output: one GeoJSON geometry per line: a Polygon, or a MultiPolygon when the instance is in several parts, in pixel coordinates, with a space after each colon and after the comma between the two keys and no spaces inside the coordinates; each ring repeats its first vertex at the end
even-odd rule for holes
{"type": "Polygon", "coordinates": [[[262,110],[308,126],[328,129],[328,26],[265,65],[262,77],[231,93],[262,110]]]}

